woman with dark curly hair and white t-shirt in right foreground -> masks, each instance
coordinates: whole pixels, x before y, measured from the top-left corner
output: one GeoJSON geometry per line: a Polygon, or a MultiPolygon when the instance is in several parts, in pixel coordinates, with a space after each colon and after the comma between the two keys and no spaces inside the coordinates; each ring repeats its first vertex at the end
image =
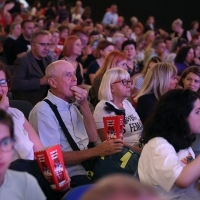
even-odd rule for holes
{"type": "Polygon", "coordinates": [[[198,200],[200,156],[191,148],[200,134],[200,96],[175,89],[162,96],[144,126],[144,144],[138,173],[140,181],[161,193],[163,199],[198,200]]]}

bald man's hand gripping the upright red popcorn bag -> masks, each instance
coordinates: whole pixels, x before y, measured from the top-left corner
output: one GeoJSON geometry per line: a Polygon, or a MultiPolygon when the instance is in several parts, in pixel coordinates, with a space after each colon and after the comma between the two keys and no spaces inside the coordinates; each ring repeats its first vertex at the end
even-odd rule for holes
{"type": "Polygon", "coordinates": [[[112,139],[109,141],[102,142],[97,148],[99,148],[99,156],[108,156],[118,152],[123,149],[123,141],[120,139],[112,139]]]}

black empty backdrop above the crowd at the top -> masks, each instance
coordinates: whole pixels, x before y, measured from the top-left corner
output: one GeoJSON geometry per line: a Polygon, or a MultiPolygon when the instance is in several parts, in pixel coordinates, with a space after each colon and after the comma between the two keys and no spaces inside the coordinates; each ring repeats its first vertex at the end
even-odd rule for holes
{"type": "MultiPolygon", "coordinates": [[[[30,4],[33,1],[27,0],[30,4]]],[[[42,0],[42,5],[47,4],[47,0],[42,0]]],[[[75,0],[65,0],[68,6],[75,5],[75,0]]],[[[156,27],[167,31],[171,28],[173,20],[180,18],[183,20],[183,27],[190,29],[191,21],[200,21],[200,0],[82,0],[83,7],[92,8],[92,19],[101,21],[106,8],[115,3],[118,5],[118,13],[125,17],[126,23],[130,23],[130,18],[136,16],[142,23],[146,22],[149,15],[155,16],[156,27]]]]}

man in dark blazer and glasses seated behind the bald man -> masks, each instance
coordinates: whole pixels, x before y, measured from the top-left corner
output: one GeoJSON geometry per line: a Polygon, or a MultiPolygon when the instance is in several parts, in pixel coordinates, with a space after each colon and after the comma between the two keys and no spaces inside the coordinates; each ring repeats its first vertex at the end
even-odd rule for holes
{"type": "Polygon", "coordinates": [[[29,101],[33,105],[47,94],[45,69],[51,63],[47,31],[35,32],[31,37],[31,51],[15,60],[12,90],[15,99],[29,101]]]}

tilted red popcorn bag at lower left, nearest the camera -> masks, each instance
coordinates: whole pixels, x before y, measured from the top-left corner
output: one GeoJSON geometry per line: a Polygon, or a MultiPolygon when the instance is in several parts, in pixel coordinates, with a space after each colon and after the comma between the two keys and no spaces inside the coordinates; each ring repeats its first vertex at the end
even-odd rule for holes
{"type": "Polygon", "coordinates": [[[35,157],[43,175],[49,181],[54,191],[59,191],[70,186],[70,178],[64,166],[60,145],[35,152],[35,157]]]}

